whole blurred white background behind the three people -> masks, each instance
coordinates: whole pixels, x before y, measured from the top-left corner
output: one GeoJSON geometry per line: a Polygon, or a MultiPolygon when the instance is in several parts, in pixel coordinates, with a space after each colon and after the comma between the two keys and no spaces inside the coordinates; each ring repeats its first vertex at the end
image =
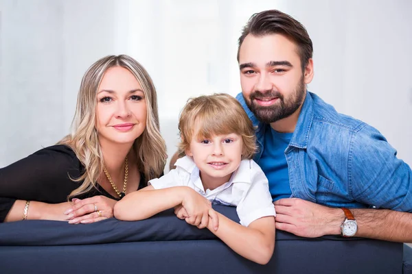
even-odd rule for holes
{"type": "Polygon", "coordinates": [[[308,29],[309,90],[376,127],[411,165],[412,1],[0,0],[0,167],[68,134],[82,75],[120,53],[157,86],[171,157],[189,97],[241,91],[237,40],[267,9],[308,29]]]}

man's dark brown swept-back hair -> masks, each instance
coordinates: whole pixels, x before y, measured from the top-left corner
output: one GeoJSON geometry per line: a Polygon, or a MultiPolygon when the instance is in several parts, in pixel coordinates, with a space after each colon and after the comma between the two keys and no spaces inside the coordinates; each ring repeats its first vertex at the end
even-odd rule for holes
{"type": "Polygon", "coordinates": [[[244,38],[251,34],[253,36],[266,36],[271,34],[283,34],[296,43],[301,60],[302,71],[304,71],[308,60],[312,58],[313,46],[304,25],[292,16],[279,12],[279,10],[265,10],[255,13],[249,18],[247,25],[242,29],[242,35],[238,40],[238,62],[240,46],[244,38]]]}

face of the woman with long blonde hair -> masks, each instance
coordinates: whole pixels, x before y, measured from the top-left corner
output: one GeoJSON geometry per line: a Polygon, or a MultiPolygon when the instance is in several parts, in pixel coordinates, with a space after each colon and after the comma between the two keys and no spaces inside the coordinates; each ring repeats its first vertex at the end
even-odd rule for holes
{"type": "Polygon", "coordinates": [[[122,66],[108,69],[97,94],[100,142],[133,144],[146,128],[146,116],[146,98],[135,76],[122,66]]]}

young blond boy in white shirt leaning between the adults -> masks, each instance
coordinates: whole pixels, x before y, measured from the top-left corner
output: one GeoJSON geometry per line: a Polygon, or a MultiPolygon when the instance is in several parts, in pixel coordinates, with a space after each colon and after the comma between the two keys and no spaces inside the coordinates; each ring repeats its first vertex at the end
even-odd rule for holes
{"type": "Polygon", "coordinates": [[[137,221],[175,207],[180,219],[207,227],[244,258],[266,264],[275,248],[276,214],[268,180],[251,160],[255,132],[242,106],[226,94],[191,99],[179,130],[185,157],[176,169],[118,201],[115,217],[137,221]],[[241,225],[213,210],[211,201],[236,206],[241,225]]]}

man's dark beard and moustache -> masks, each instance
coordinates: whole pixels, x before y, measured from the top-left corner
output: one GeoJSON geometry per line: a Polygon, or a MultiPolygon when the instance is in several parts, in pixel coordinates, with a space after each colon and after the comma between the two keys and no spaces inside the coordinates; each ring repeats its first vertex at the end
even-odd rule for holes
{"type": "Polygon", "coordinates": [[[302,76],[299,84],[295,88],[295,92],[286,99],[280,92],[275,90],[268,90],[264,93],[255,90],[251,93],[250,101],[246,98],[244,101],[249,110],[255,114],[259,121],[268,124],[284,119],[295,113],[304,99],[305,92],[306,85],[304,83],[304,77],[302,76]],[[277,97],[279,102],[275,102],[273,105],[262,106],[254,101],[254,99],[269,99],[274,97],[277,97]]]}

